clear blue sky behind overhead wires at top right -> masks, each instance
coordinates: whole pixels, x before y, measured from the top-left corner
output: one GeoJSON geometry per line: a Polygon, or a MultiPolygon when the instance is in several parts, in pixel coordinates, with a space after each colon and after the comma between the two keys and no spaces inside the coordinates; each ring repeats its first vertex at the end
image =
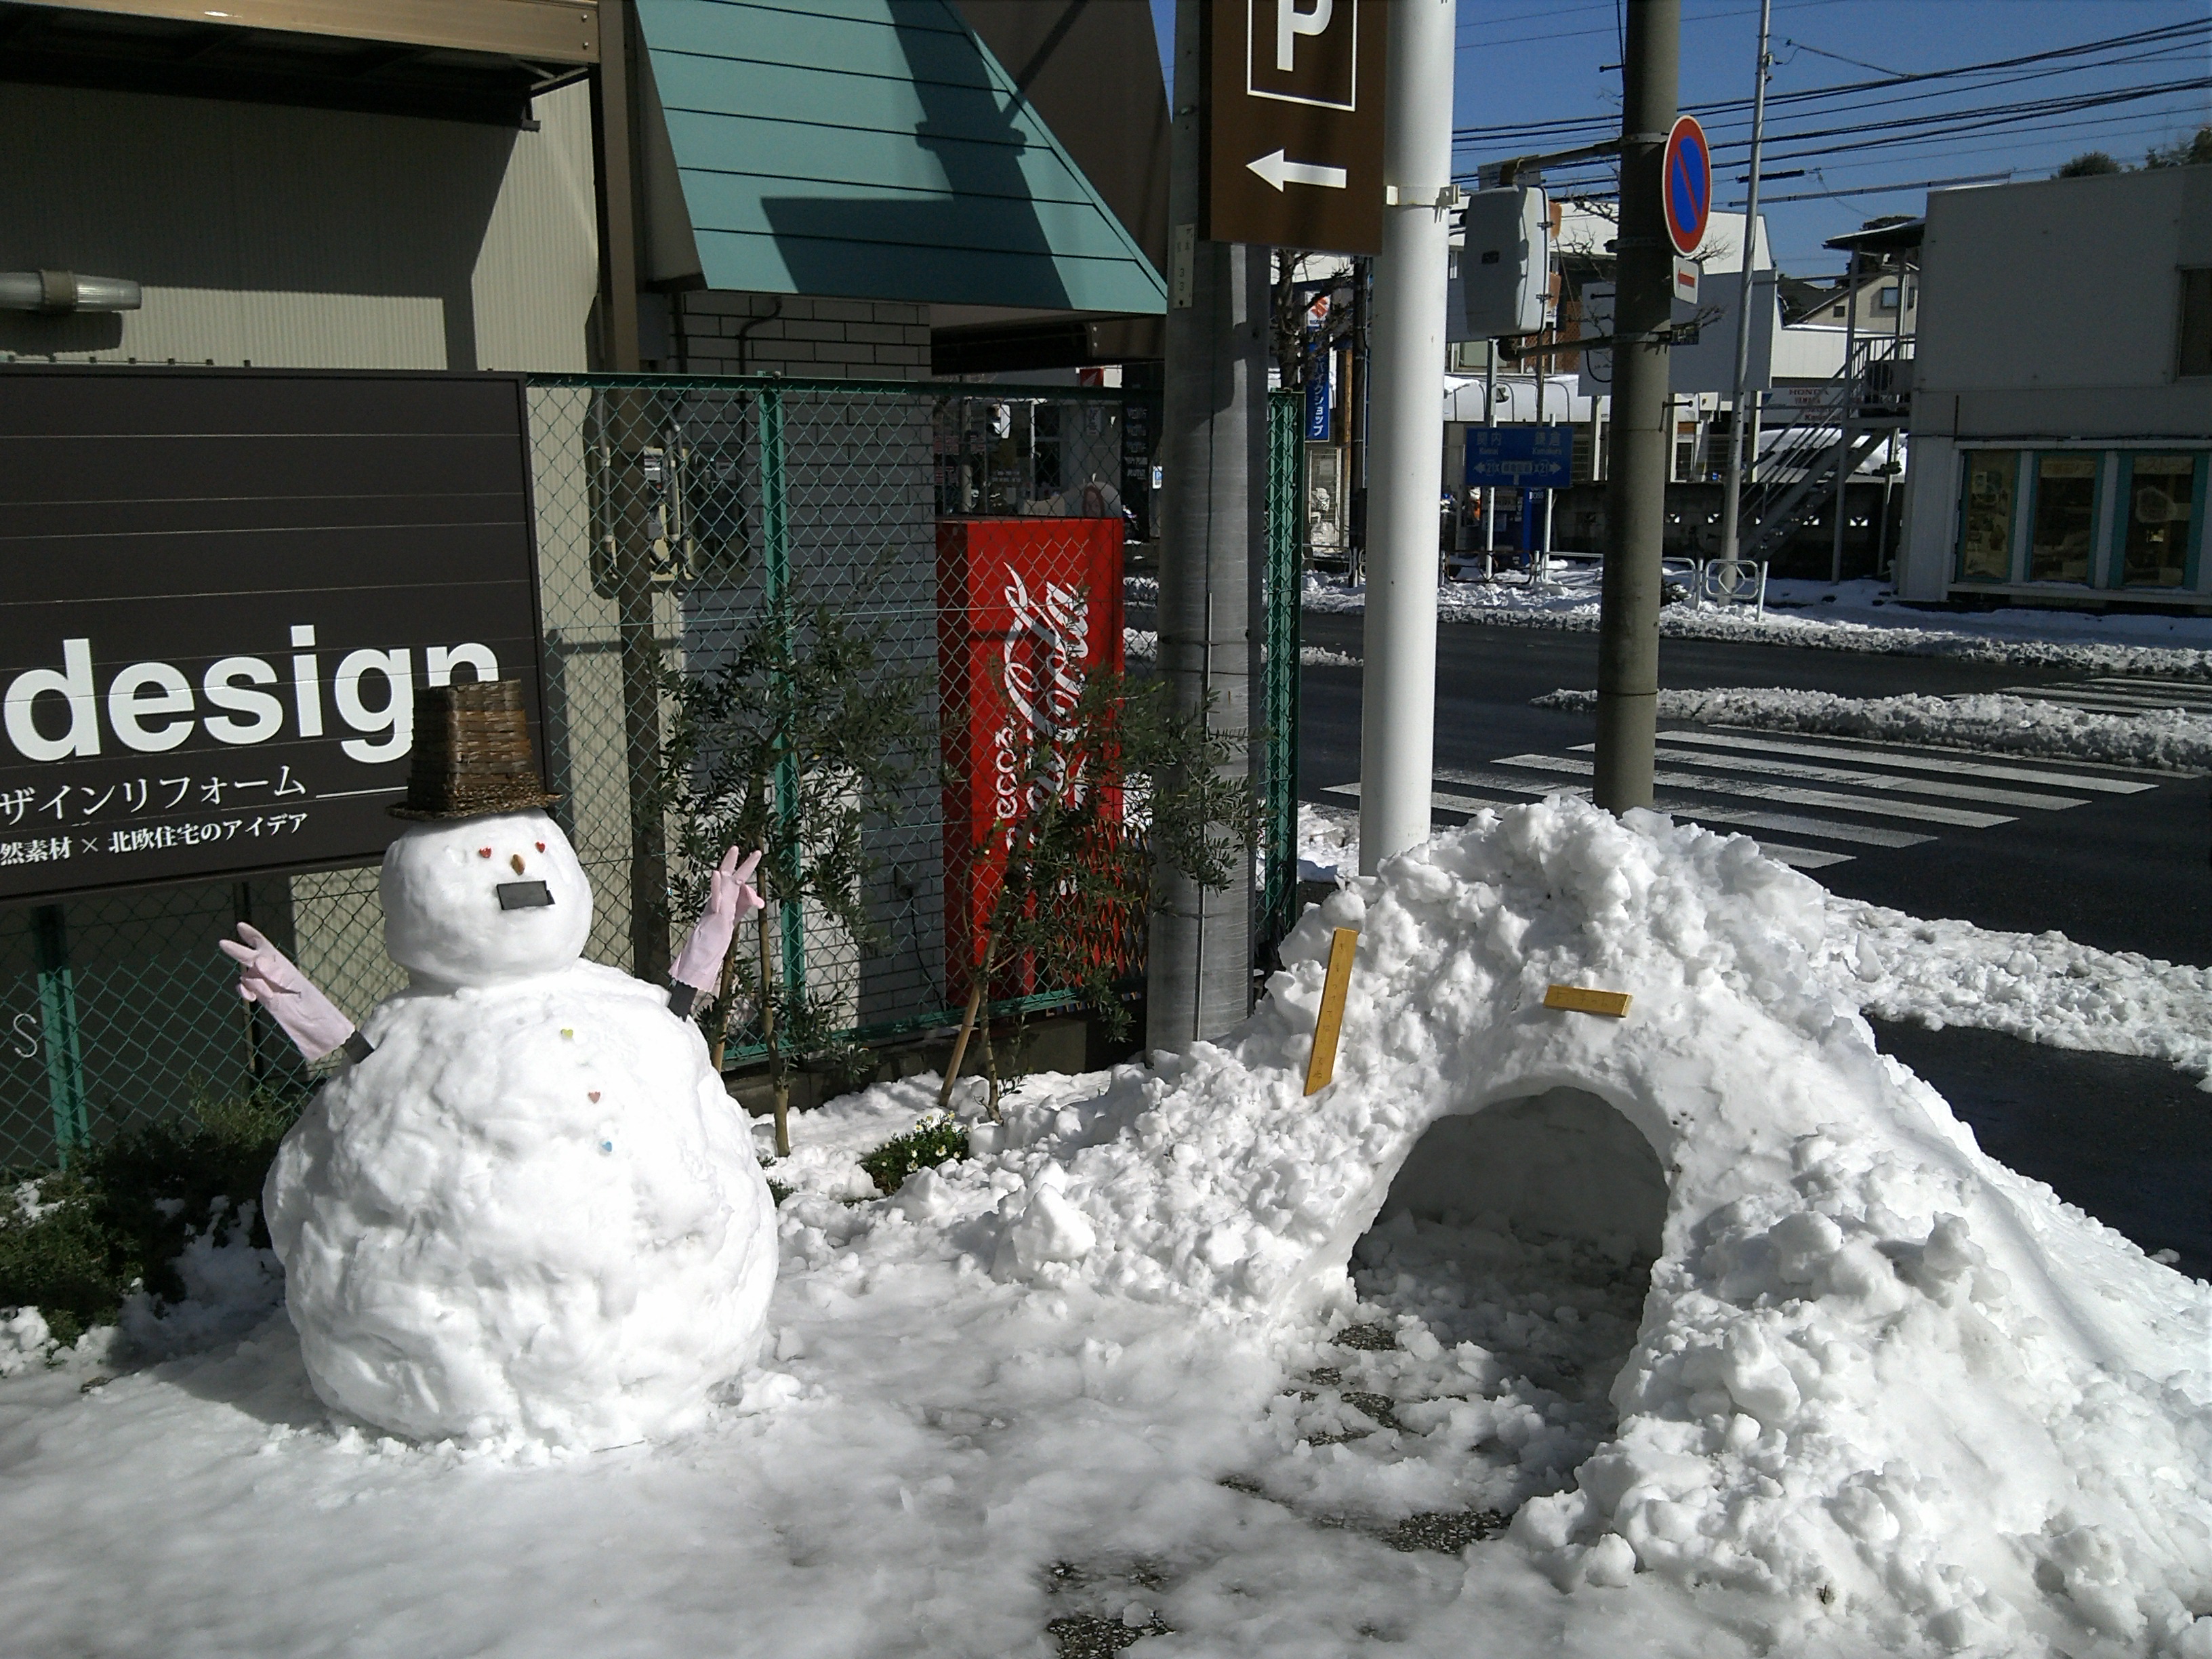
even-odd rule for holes
{"type": "MultiPolygon", "coordinates": [[[[1175,0],[1150,0],[1150,4],[1166,58],[1175,29],[1175,0]]],[[[1621,77],[1606,69],[1619,62],[1615,4],[1617,0],[1551,4],[1460,0],[1453,126],[1617,119],[1621,77]]],[[[1924,73],[2020,58],[2205,20],[2212,20],[2212,0],[1774,0],[1776,69],[1770,97],[1880,80],[1885,73],[1924,73]]],[[[1683,0],[1683,106],[1747,97],[1756,42],[1756,0],[1683,0]]],[[[1936,135],[1860,153],[1834,148],[1849,142],[1847,137],[1778,142],[1792,126],[1858,128],[1863,139],[1911,137],[1885,124],[1898,115],[1986,108],[2026,97],[2068,97],[2212,75],[2212,33],[2141,51],[2146,55],[2139,62],[2075,69],[2006,86],[1989,84],[1993,77],[1984,77],[1980,86],[1931,82],[1854,95],[1816,111],[1776,106],[1767,128],[1770,157],[1783,148],[1809,150],[1770,159],[1761,168],[1767,175],[1801,170],[1801,177],[1767,177],[1761,186],[1776,261],[1794,274],[1840,268],[1840,259],[1820,248],[1827,237],[1854,230],[1882,212],[1920,212],[1927,201],[1924,190],[1845,192],[2004,170],[2015,179],[2039,179],[2081,150],[2108,150],[2121,161],[2141,161],[2146,146],[2168,144],[2212,124],[2212,91],[2174,91],[2132,104],[2053,113],[2024,126],[1936,135]],[[1933,95],[1911,104],[1874,104],[1920,93],[1933,95]],[[1783,195],[1812,199],[1774,201],[1783,195]]],[[[1745,137],[1747,119],[1721,115],[1710,128],[1714,142],[1725,144],[1745,137]]],[[[1564,144],[1520,137],[1478,142],[1460,148],[1453,164],[1471,173],[1478,161],[1537,148],[1564,148],[1564,144]]],[[[1728,159],[1728,150],[1721,150],[1721,161],[1728,159]]],[[[1736,166],[1723,168],[1714,192],[1721,206],[1741,201],[1743,186],[1736,184],[1741,173],[1739,153],[1736,166]]],[[[1553,184],[1562,179],[1555,175],[1553,184]]]]}

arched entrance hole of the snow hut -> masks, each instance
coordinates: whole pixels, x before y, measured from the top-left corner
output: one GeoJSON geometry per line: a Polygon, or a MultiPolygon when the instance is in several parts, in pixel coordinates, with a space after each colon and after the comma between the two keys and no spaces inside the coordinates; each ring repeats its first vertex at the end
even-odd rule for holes
{"type": "Polygon", "coordinates": [[[1650,1144],[1582,1088],[1438,1119],[1352,1250],[1358,1323],[1314,1376],[1345,1394],[1307,1427],[1387,1407],[1422,1436],[1396,1455],[1498,1513],[1571,1484],[1613,1433],[1666,1208],[1650,1144]]]}

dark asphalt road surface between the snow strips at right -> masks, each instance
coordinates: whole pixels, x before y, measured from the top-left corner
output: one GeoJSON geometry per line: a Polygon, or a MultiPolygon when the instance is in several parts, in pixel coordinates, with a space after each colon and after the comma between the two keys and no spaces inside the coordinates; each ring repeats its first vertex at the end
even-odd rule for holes
{"type": "MultiPolygon", "coordinates": [[[[1305,617],[1305,639],[1358,655],[1360,617],[1305,617]]],[[[1849,697],[1978,692],[2086,679],[1920,657],[1787,646],[1661,641],[1663,686],[1790,686],[1849,697]]],[[[1535,710],[1548,690],[1597,684],[1597,637],[1447,624],[1438,633],[1436,761],[1495,770],[1511,754],[1571,754],[1590,714],[1535,710]]],[[[1360,670],[1307,668],[1301,796],[1352,805],[1332,785],[1360,772],[1360,670]]],[[[1575,779],[1562,779],[1575,781],[1575,779]]],[[[1991,827],[1944,827],[1909,847],[1854,847],[1812,872],[1838,894],[1913,916],[2068,938],[2170,962],[2212,962],[2208,781],[2101,796],[2064,812],[2020,812],[1991,827]]],[[[1756,832],[1754,832],[1756,834],[1756,832]]],[[[1927,1077],[2004,1164],[2135,1239],[2212,1276],[2212,1095],[2170,1066],[2037,1048],[1986,1031],[1876,1026],[1876,1040],[1927,1077]]]]}

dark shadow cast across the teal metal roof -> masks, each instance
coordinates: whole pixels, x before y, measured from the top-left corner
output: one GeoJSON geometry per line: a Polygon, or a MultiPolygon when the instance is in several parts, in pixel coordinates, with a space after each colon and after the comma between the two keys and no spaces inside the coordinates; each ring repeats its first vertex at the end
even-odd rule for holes
{"type": "Polygon", "coordinates": [[[1022,175],[1029,139],[1015,113],[1024,104],[1002,106],[989,86],[956,84],[931,62],[945,51],[945,0],[889,0],[889,11],[922,104],[914,137],[958,199],[763,199],[792,288],[891,296],[964,283],[978,301],[1064,310],[1068,290],[1022,175]]]}

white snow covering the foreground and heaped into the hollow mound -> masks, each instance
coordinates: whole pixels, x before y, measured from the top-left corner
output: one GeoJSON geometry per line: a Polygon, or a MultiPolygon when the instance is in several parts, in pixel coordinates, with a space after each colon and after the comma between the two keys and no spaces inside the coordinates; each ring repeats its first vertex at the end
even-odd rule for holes
{"type": "Polygon", "coordinates": [[[1986,1159],[1840,942],[1743,838],[1486,814],[896,1197],[933,1079],[801,1115],[763,1365],[664,1444],[365,1433],[281,1314],[88,1338],[0,1383],[0,1650],[2212,1659],[2212,1290],[1986,1159]]]}

